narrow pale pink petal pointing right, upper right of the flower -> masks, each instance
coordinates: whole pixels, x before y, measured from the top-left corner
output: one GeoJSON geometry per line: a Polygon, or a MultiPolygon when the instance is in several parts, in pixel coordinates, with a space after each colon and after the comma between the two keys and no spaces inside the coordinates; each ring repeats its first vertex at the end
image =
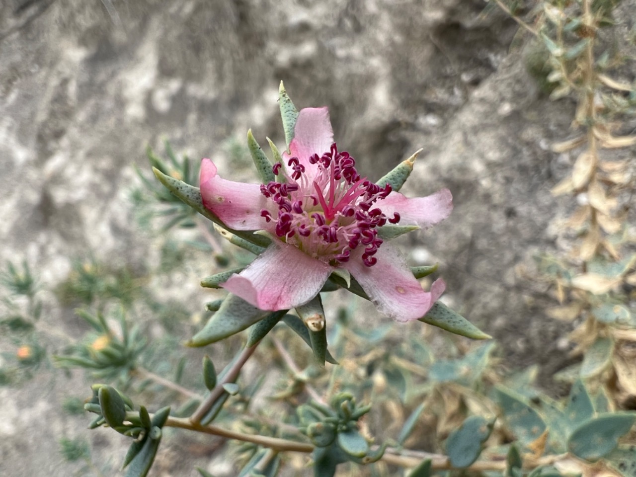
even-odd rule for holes
{"type": "Polygon", "coordinates": [[[399,213],[397,225],[418,225],[428,228],[443,221],[453,210],[453,196],[448,189],[427,197],[404,197],[399,192],[392,192],[384,200],[378,200],[377,206],[385,216],[392,218],[394,212],[399,213]]]}

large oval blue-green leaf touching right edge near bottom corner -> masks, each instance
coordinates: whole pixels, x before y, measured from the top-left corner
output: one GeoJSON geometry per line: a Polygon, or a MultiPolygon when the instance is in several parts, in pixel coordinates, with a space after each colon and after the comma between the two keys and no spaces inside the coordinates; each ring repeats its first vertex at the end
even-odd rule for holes
{"type": "Polygon", "coordinates": [[[581,459],[596,461],[618,446],[632,429],[636,413],[603,413],[579,425],[568,439],[568,450],[581,459]]]}

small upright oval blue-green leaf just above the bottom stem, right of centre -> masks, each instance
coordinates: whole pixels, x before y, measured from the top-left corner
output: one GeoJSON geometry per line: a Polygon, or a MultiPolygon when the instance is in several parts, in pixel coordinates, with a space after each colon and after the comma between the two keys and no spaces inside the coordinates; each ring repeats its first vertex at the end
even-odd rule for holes
{"type": "Polygon", "coordinates": [[[464,469],[480,456],[483,443],[490,437],[495,420],[490,422],[481,416],[467,418],[459,429],[455,429],[446,439],[446,453],[450,465],[464,469]]]}

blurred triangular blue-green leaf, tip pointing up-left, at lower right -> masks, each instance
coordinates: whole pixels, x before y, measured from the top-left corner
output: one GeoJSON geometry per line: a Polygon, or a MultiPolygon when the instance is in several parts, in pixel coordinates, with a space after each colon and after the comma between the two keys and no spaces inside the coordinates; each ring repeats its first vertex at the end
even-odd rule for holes
{"type": "Polygon", "coordinates": [[[535,441],[546,430],[543,418],[524,397],[503,386],[495,388],[495,396],[504,411],[503,418],[508,428],[523,445],[535,441]]]}

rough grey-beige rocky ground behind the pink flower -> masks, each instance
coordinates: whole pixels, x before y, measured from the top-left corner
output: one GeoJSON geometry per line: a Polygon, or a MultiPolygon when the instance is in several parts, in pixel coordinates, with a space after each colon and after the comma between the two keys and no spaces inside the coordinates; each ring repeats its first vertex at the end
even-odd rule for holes
{"type": "MultiPolygon", "coordinates": [[[[0,2],[0,261],[26,258],[48,287],[82,254],[142,263],[148,237],[128,195],[146,146],[167,138],[227,174],[228,144],[247,128],[283,141],[282,79],[297,106],[329,106],[338,144],[371,178],[424,148],[406,190],[450,188],[455,210],[404,246],[413,259],[438,260],[453,307],[497,338],[511,367],[539,364],[546,384],[567,364],[567,330],[545,317],[545,287],[521,280],[515,266],[554,246],[550,221],[572,205],[550,195],[572,158],[549,145],[569,135],[574,102],[541,95],[524,65],[530,38],[515,36],[499,11],[481,15],[484,7],[0,2]]],[[[46,319],[73,335],[71,315],[52,308],[46,319]]],[[[80,375],[52,374],[0,388],[1,475],[73,472],[52,436],[78,432],[79,421],[58,409],[69,388],[83,386],[80,375]]],[[[94,444],[106,455],[118,436],[102,434],[94,444]]]]}

